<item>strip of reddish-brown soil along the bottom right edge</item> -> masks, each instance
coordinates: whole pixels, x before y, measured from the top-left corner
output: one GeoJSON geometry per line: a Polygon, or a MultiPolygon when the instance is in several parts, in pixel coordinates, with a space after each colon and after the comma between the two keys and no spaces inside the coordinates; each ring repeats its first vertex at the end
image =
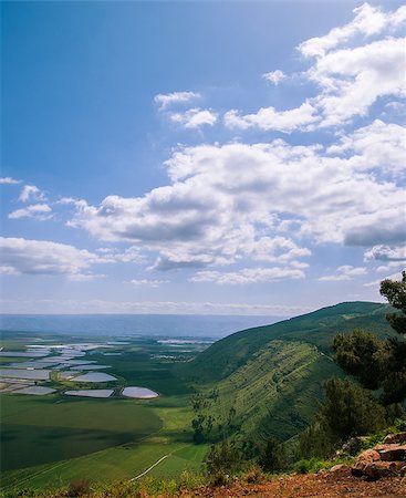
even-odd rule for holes
{"type": "Polygon", "coordinates": [[[262,497],[262,498],[405,498],[406,478],[393,477],[366,481],[356,477],[339,477],[330,473],[281,477],[266,484],[202,487],[178,495],[183,498],[262,497]]]}

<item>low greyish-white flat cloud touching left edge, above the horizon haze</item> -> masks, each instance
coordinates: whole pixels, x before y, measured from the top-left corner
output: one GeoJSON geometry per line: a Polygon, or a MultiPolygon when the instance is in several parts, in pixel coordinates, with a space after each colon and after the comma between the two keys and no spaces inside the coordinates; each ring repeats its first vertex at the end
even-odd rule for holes
{"type": "Polygon", "coordinates": [[[93,263],[105,262],[84,249],[48,240],[0,238],[3,270],[12,274],[65,274],[81,278],[93,263]]]}

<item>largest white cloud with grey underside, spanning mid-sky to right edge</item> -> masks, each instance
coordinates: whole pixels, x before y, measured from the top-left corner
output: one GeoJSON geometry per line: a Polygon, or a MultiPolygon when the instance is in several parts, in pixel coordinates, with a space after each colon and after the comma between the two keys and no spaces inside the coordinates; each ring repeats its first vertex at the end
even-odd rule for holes
{"type": "Polygon", "coordinates": [[[298,260],[310,253],[298,236],[364,247],[396,243],[405,237],[403,188],[364,170],[367,154],[360,151],[355,168],[352,157],[283,141],[185,147],[166,163],[170,185],[143,197],[76,206],[70,226],[156,252],[159,270],[242,258],[298,260]]]}

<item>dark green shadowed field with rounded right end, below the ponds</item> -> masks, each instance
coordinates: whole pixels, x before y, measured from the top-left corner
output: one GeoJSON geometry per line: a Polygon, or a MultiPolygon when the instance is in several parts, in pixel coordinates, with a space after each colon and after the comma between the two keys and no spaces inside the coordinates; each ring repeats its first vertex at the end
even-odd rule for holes
{"type": "Polygon", "coordinates": [[[73,458],[136,442],[162,427],[147,406],[126,400],[6,395],[1,400],[2,470],[73,458]],[[41,448],[41,450],[30,450],[41,448]]]}

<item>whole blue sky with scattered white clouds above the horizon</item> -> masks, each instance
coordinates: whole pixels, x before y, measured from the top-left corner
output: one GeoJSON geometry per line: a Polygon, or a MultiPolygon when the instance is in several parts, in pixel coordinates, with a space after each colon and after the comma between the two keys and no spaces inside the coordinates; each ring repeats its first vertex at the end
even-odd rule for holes
{"type": "Polygon", "coordinates": [[[294,315],[405,266],[399,2],[2,2],[2,310],[294,315]]]}

